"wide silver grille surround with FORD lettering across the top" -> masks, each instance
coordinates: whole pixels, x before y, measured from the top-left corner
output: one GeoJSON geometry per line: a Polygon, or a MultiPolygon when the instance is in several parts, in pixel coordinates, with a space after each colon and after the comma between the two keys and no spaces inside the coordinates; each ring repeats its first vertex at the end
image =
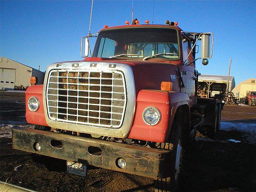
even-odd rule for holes
{"type": "MultiPolygon", "coordinates": [[[[75,63],[78,63],[78,62],[76,61],[75,63]]],[[[91,67],[92,62],[83,62],[83,61],[79,61],[79,67],[77,67],[77,68],[72,68],[72,64],[74,64],[74,62],[62,62],[62,66],[58,66],[58,64],[56,64],[56,63],[50,64],[48,66],[48,68],[46,70],[47,77],[44,79],[44,90],[43,90],[43,96],[44,96],[43,102],[44,102],[44,112],[45,112],[46,122],[49,124],[49,126],[51,126],[53,128],[60,128],[60,129],[64,129],[64,130],[71,130],[71,131],[77,131],[77,132],[84,132],[84,133],[124,138],[124,137],[128,136],[128,134],[130,132],[132,121],[134,118],[135,104],[136,104],[135,83],[134,83],[134,76],[133,76],[132,68],[131,68],[131,66],[129,66],[127,64],[122,64],[122,63],[114,63],[116,68],[109,68],[110,62],[93,62],[93,63],[94,64],[97,63],[96,67],[91,67]],[[58,67],[56,67],[56,66],[58,66],[58,67]],[[87,125],[74,124],[74,123],[70,123],[70,122],[61,122],[59,120],[50,119],[48,117],[48,109],[47,109],[48,104],[47,104],[47,98],[46,98],[48,94],[46,91],[48,90],[47,85],[48,85],[48,80],[50,79],[50,78],[48,78],[48,74],[50,74],[50,71],[52,71],[52,70],[69,70],[69,71],[74,70],[74,72],[76,72],[76,70],[80,70],[80,71],[95,70],[95,71],[103,71],[103,72],[121,71],[123,73],[124,83],[125,83],[123,87],[126,86],[126,90],[124,90],[124,92],[126,92],[126,107],[124,107],[123,121],[120,122],[119,127],[117,127],[117,126],[110,127],[108,125],[99,126],[99,125],[88,125],[88,124],[87,125]]],[[[117,83],[120,83],[120,82],[117,82],[117,83]]],[[[113,82],[113,84],[114,84],[114,82],[113,82]]],[[[93,86],[93,84],[91,86],[93,86]]],[[[106,86],[109,86],[109,85],[106,85],[106,86]]],[[[118,85],[115,85],[115,86],[118,86],[118,85]]],[[[90,91],[90,93],[92,93],[92,92],[97,93],[98,91],[90,91]]],[[[106,93],[108,93],[108,92],[106,92],[106,93]]],[[[120,93],[120,92],[117,92],[117,94],[118,93],[120,93]]],[[[84,96],[74,96],[74,97],[90,98],[89,95],[88,95],[88,97],[84,97],[84,96]]],[[[118,97],[118,95],[116,97],[118,97]]],[[[109,100],[109,98],[102,98],[101,100],[109,100]]],[[[78,104],[77,102],[66,102],[66,103],[78,104]]],[[[83,104],[83,103],[79,103],[79,104],[83,104]]],[[[95,106],[99,106],[99,105],[96,104],[95,106]]],[[[100,108],[104,107],[104,106],[109,107],[109,105],[100,104],[100,108]]],[[[88,107],[89,107],[89,105],[88,105],[88,107]]],[[[116,106],[114,106],[114,107],[116,107],[116,106]]],[[[84,111],[84,112],[88,111],[86,109],[84,109],[84,110],[79,109],[79,110],[84,111]]],[[[97,110],[90,110],[90,111],[98,112],[97,110]]],[[[104,111],[103,113],[108,113],[108,112],[104,111]]],[[[86,118],[86,117],[83,116],[82,118],[86,118]]],[[[87,117],[87,118],[93,118],[93,117],[87,117]]],[[[105,118],[103,116],[100,119],[102,121],[105,120],[105,118]]],[[[100,119],[99,119],[99,121],[100,121],[100,119]]],[[[106,119],[108,119],[108,118],[106,118],[106,119]]]]}

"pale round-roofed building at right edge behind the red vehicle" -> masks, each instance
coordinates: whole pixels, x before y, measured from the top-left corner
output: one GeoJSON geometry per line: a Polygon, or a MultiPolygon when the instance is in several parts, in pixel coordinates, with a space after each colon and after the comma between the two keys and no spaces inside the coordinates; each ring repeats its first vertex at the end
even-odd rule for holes
{"type": "Polygon", "coordinates": [[[239,98],[239,102],[244,102],[243,98],[249,91],[256,91],[256,78],[247,79],[238,84],[232,92],[239,98]]]}

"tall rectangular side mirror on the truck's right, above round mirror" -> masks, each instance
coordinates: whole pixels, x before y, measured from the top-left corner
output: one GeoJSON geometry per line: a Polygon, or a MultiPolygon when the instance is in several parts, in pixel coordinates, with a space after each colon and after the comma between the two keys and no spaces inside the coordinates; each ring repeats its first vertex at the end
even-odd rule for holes
{"type": "Polygon", "coordinates": [[[203,33],[201,35],[201,40],[202,40],[202,44],[201,44],[201,58],[202,59],[209,59],[209,58],[212,57],[213,34],[212,33],[203,33]]]}

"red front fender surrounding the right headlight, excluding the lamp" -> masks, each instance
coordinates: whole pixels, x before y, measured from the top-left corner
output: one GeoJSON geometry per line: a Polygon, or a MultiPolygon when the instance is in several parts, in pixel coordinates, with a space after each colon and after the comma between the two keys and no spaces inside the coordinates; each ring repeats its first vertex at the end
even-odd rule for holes
{"type": "Polygon", "coordinates": [[[169,125],[172,124],[176,109],[184,104],[189,105],[188,95],[184,93],[140,90],[134,124],[128,138],[161,143],[167,141],[170,134],[169,125]],[[155,126],[146,124],[142,118],[144,109],[149,106],[158,108],[161,112],[161,121],[155,126]]]}

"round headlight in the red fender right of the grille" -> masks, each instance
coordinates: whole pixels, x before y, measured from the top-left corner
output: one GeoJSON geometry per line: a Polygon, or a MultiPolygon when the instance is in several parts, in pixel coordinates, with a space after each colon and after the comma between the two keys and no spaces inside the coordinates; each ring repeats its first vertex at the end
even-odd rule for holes
{"type": "Polygon", "coordinates": [[[154,107],[147,107],[143,114],[143,120],[148,125],[156,125],[160,122],[161,113],[157,108],[154,107]]]}

